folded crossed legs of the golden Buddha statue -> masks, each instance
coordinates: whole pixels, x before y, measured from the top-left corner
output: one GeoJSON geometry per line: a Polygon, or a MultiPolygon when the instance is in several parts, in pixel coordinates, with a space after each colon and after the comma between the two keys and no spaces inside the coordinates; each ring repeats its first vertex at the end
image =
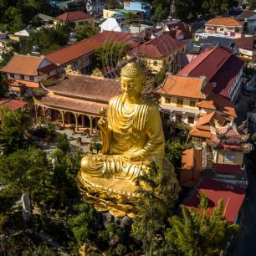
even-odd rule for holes
{"type": "Polygon", "coordinates": [[[111,155],[89,155],[81,161],[81,171],[90,177],[134,180],[146,168],[145,162],[125,161],[111,155]]]}

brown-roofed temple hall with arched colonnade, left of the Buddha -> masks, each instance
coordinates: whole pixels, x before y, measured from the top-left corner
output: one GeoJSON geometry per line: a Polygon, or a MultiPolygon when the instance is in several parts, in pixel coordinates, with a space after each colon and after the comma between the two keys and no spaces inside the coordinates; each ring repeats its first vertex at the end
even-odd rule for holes
{"type": "Polygon", "coordinates": [[[99,111],[107,108],[111,97],[120,94],[120,82],[83,74],[67,74],[53,84],[42,84],[33,91],[36,119],[50,120],[76,130],[97,129],[99,111]]]}

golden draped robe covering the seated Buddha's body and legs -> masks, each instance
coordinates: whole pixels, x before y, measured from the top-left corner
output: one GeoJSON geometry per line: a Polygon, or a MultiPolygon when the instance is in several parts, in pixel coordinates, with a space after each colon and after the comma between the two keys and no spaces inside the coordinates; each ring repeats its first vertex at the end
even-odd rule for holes
{"type": "Polygon", "coordinates": [[[125,110],[124,104],[124,95],[110,100],[102,152],[84,156],[81,161],[86,176],[133,181],[151,161],[162,169],[164,135],[157,105],[142,98],[133,110],[125,110]],[[139,161],[122,158],[129,155],[138,156],[139,161]]]}

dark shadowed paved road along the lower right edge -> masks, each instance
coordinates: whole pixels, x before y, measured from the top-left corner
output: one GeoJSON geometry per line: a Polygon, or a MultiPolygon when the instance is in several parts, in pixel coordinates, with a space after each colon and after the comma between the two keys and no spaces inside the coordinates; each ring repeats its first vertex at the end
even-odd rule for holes
{"type": "Polygon", "coordinates": [[[256,176],[255,166],[245,159],[248,188],[244,200],[241,223],[242,226],[237,237],[234,239],[232,256],[255,256],[256,255],[256,176]]]}

